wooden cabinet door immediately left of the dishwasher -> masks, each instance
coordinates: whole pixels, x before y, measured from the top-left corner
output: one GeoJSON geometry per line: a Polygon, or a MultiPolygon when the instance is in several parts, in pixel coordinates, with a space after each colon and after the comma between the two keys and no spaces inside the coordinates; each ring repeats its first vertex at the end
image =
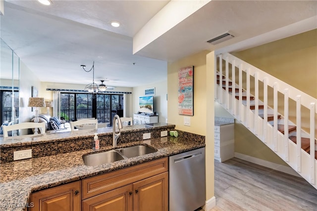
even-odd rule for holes
{"type": "Polygon", "coordinates": [[[134,211],[168,211],[168,172],[133,183],[134,211]]]}

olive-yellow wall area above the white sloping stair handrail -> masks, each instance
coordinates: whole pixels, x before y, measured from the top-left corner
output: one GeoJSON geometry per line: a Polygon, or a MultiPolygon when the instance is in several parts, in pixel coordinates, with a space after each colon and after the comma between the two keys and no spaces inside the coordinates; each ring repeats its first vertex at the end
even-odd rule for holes
{"type": "Polygon", "coordinates": [[[317,29],[231,54],[317,98],[317,29]]]}

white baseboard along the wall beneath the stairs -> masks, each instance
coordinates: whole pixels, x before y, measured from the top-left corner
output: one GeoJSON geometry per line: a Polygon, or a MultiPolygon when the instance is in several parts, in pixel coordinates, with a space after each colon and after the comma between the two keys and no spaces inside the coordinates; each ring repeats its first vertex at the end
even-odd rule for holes
{"type": "Polygon", "coordinates": [[[264,166],[264,167],[267,167],[270,169],[274,169],[274,170],[278,170],[278,171],[288,173],[288,174],[291,174],[294,176],[302,177],[291,167],[286,167],[286,166],[275,164],[275,163],[272,163],[269,161],[264,161],[262,159],[251,157],[249,155],[244,155],[244,154],[237,153],[237,152],[234,153],[234,157],[239,158],[239,159],[244,160],[244,161],[248,161],[250,163],[258,164],[260,166],[264,166]]]}

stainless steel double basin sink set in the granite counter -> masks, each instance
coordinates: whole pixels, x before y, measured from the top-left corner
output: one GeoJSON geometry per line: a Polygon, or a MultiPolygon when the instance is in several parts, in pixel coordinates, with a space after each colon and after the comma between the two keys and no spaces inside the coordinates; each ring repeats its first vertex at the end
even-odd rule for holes
{"type": "Polygon", "coordinates": [[[148,147],[146,145],[137,145],[127,148],[110,150],[106,152],[84,155],[83,160],[86,166],[99,166],[103,164],[112,163],[115,161],[150,154],[153,152],[157,152],[157,150],[152,149],[151,147],[148,147]]]}

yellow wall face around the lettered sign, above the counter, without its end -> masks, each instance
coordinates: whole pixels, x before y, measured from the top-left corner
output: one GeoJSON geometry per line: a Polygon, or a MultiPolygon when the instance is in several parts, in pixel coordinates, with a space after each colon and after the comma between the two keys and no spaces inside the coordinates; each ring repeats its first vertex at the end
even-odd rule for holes
{"type": "Polygon", "coordinates": [[[206,55],[203,51],[167,65],[167,123],[176,129],[206,135],[206,55]],[[194,66],[194,116],[178,114],[178,70],[194,66]],[[184,126],[184,117],[189,117],[191,126],[184,126]]]}

